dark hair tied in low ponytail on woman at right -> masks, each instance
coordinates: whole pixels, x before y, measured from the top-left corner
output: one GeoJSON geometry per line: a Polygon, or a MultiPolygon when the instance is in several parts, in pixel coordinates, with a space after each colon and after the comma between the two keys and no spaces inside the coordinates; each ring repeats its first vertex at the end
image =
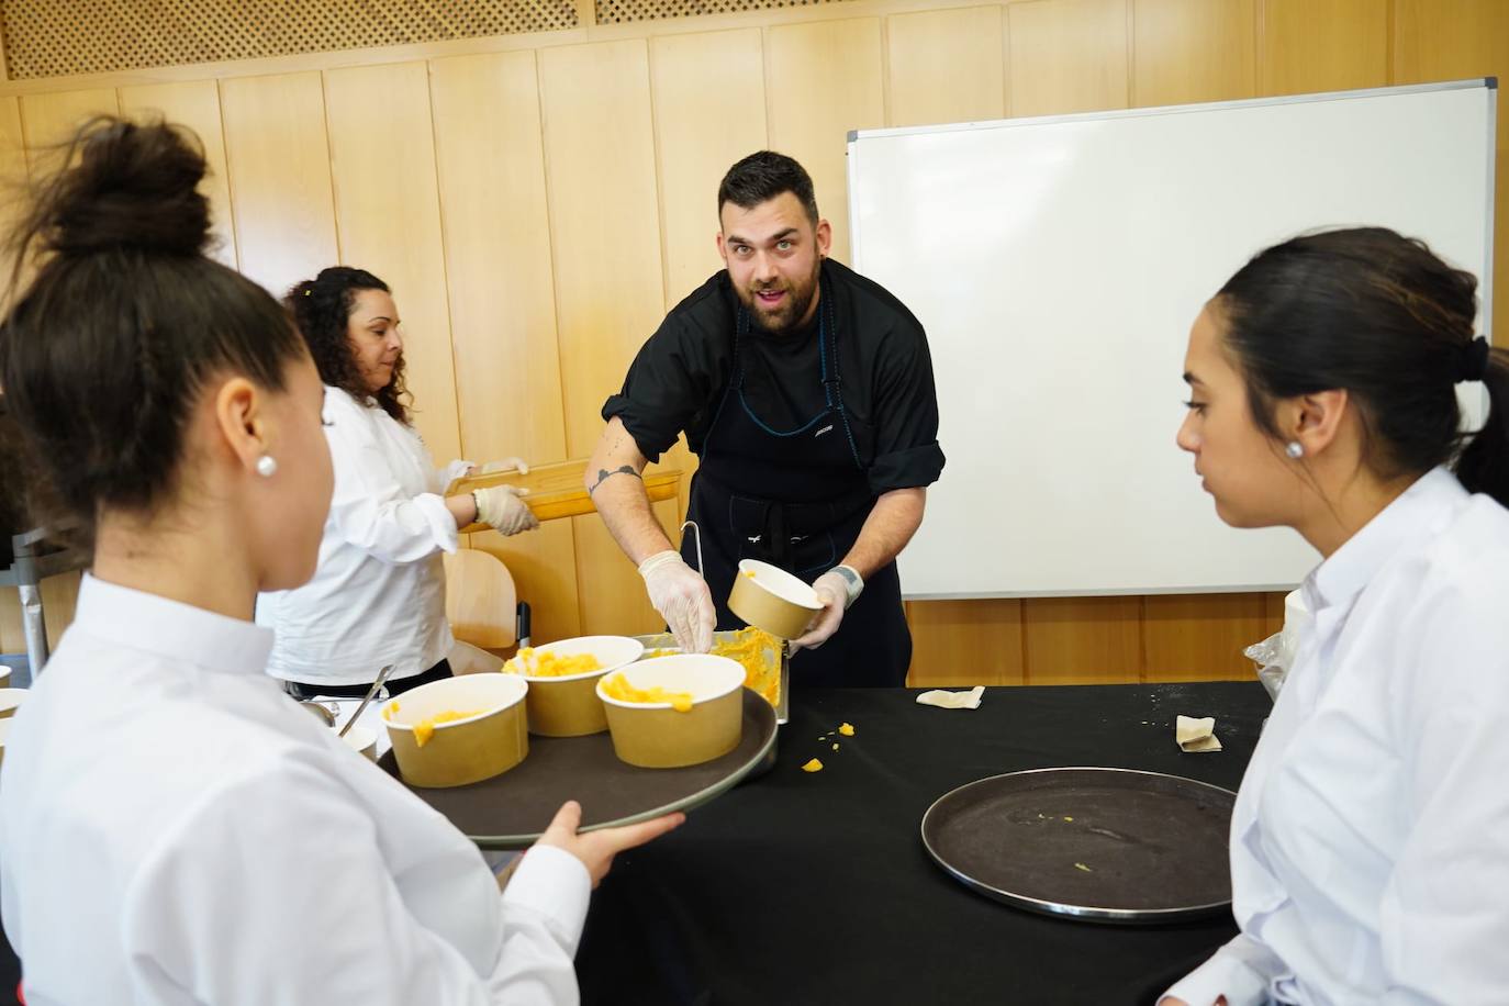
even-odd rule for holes
{"type": "Polygon", "coordinates": [[[1474,338],[1477,279],[1387,228],[1305,234],[1260,252],[1221,293],[1225,342],[1259,427],[1274,404],[1346,389],[1364,462],[1381,477],[1453,465],[1473,492],[1509,505],[1509,367],[1474,338]],[[1462,430],[1456,385],[1482,380],[1488,419],[1462,430]]]}

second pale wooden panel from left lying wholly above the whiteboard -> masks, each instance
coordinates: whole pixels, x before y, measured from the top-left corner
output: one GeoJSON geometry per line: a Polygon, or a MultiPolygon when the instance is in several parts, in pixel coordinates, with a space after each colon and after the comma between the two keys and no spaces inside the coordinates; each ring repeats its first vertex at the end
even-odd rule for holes
{"type": "Polygon", "coordinates": [[[1034,0],[1007,8],[1011,115],[1124,109],[1129,0],[1034,0]]]}

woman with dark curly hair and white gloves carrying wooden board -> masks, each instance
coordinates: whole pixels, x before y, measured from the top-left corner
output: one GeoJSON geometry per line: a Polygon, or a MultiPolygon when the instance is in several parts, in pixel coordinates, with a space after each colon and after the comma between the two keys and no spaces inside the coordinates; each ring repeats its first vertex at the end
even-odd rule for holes
{"type": "MultiPolygon", "coordinates": [[[[513,486],[442,496],[472,469],[435,468],[406,406],[403,324],[388,285],[335,265],[285,299],[324,383],[335,493],[308,584],[264,594],[257,621],[276,632],[267,671],[296,698],[364,695],[394,665],[388,692],[451,676],[445,566],[460,528],[539,526],[513,486]]],[[[489,468],[528,471],[519,459],[489,468]]]]}

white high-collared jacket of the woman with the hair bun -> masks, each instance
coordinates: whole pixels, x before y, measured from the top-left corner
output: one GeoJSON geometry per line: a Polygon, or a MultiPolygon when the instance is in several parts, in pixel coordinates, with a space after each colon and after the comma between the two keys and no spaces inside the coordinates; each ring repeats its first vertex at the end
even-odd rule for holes
{"type": "Polygon", "coordinates": [[[578,1001],[585,867],[537,846],[499,894],[465,836],[263,673],[270,647],[85,578],[0,769],[30,1006],[578,1001]]]}

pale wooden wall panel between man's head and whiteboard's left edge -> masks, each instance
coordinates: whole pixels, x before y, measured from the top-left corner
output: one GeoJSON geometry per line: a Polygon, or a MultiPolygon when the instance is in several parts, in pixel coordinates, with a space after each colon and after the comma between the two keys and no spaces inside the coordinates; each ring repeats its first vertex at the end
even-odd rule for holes
{"type": "Polygon", "coordinates": [[[850,130],[886,125],[880,18],[782,24],[765,36],[771,146],[812,175],[833,225],[833,256],[850,261],[850,130]]]}

